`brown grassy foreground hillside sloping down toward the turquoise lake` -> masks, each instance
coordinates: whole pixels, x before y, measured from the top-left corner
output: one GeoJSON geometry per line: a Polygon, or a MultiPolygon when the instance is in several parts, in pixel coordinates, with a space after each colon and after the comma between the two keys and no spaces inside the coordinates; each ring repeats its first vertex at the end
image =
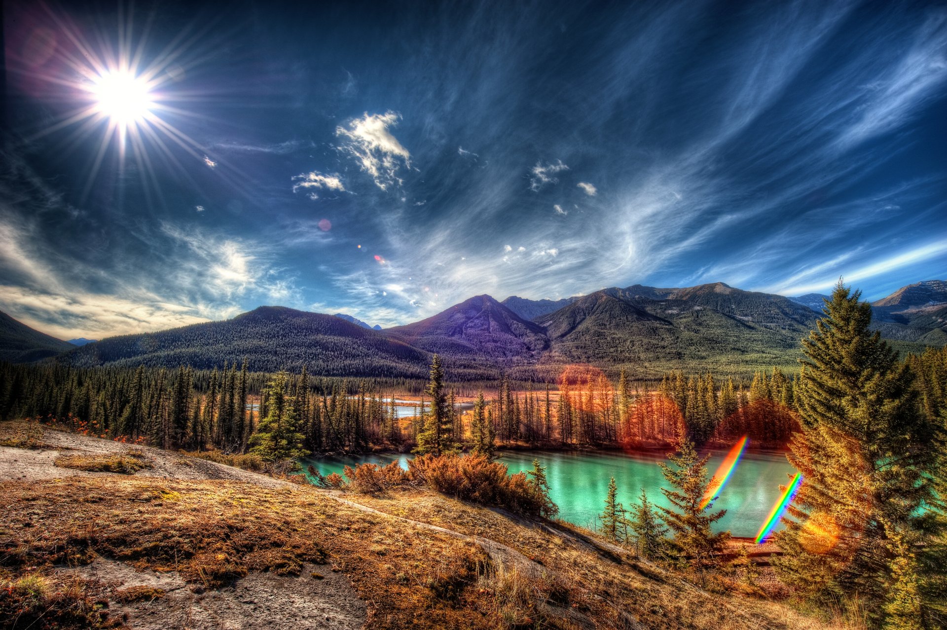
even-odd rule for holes
{"type": "MultiPolygon", "coordinates": [[[[0,442],[17,430],[0,423],[0,442]]],[[[0,606],[38,602],[56,627],[831,627],[590,531],[427,490],[339,493],[51,429],[36,440],[0,446],[0,606]],[[143,468],[76,468],[119,456],[143,468]]]]}

